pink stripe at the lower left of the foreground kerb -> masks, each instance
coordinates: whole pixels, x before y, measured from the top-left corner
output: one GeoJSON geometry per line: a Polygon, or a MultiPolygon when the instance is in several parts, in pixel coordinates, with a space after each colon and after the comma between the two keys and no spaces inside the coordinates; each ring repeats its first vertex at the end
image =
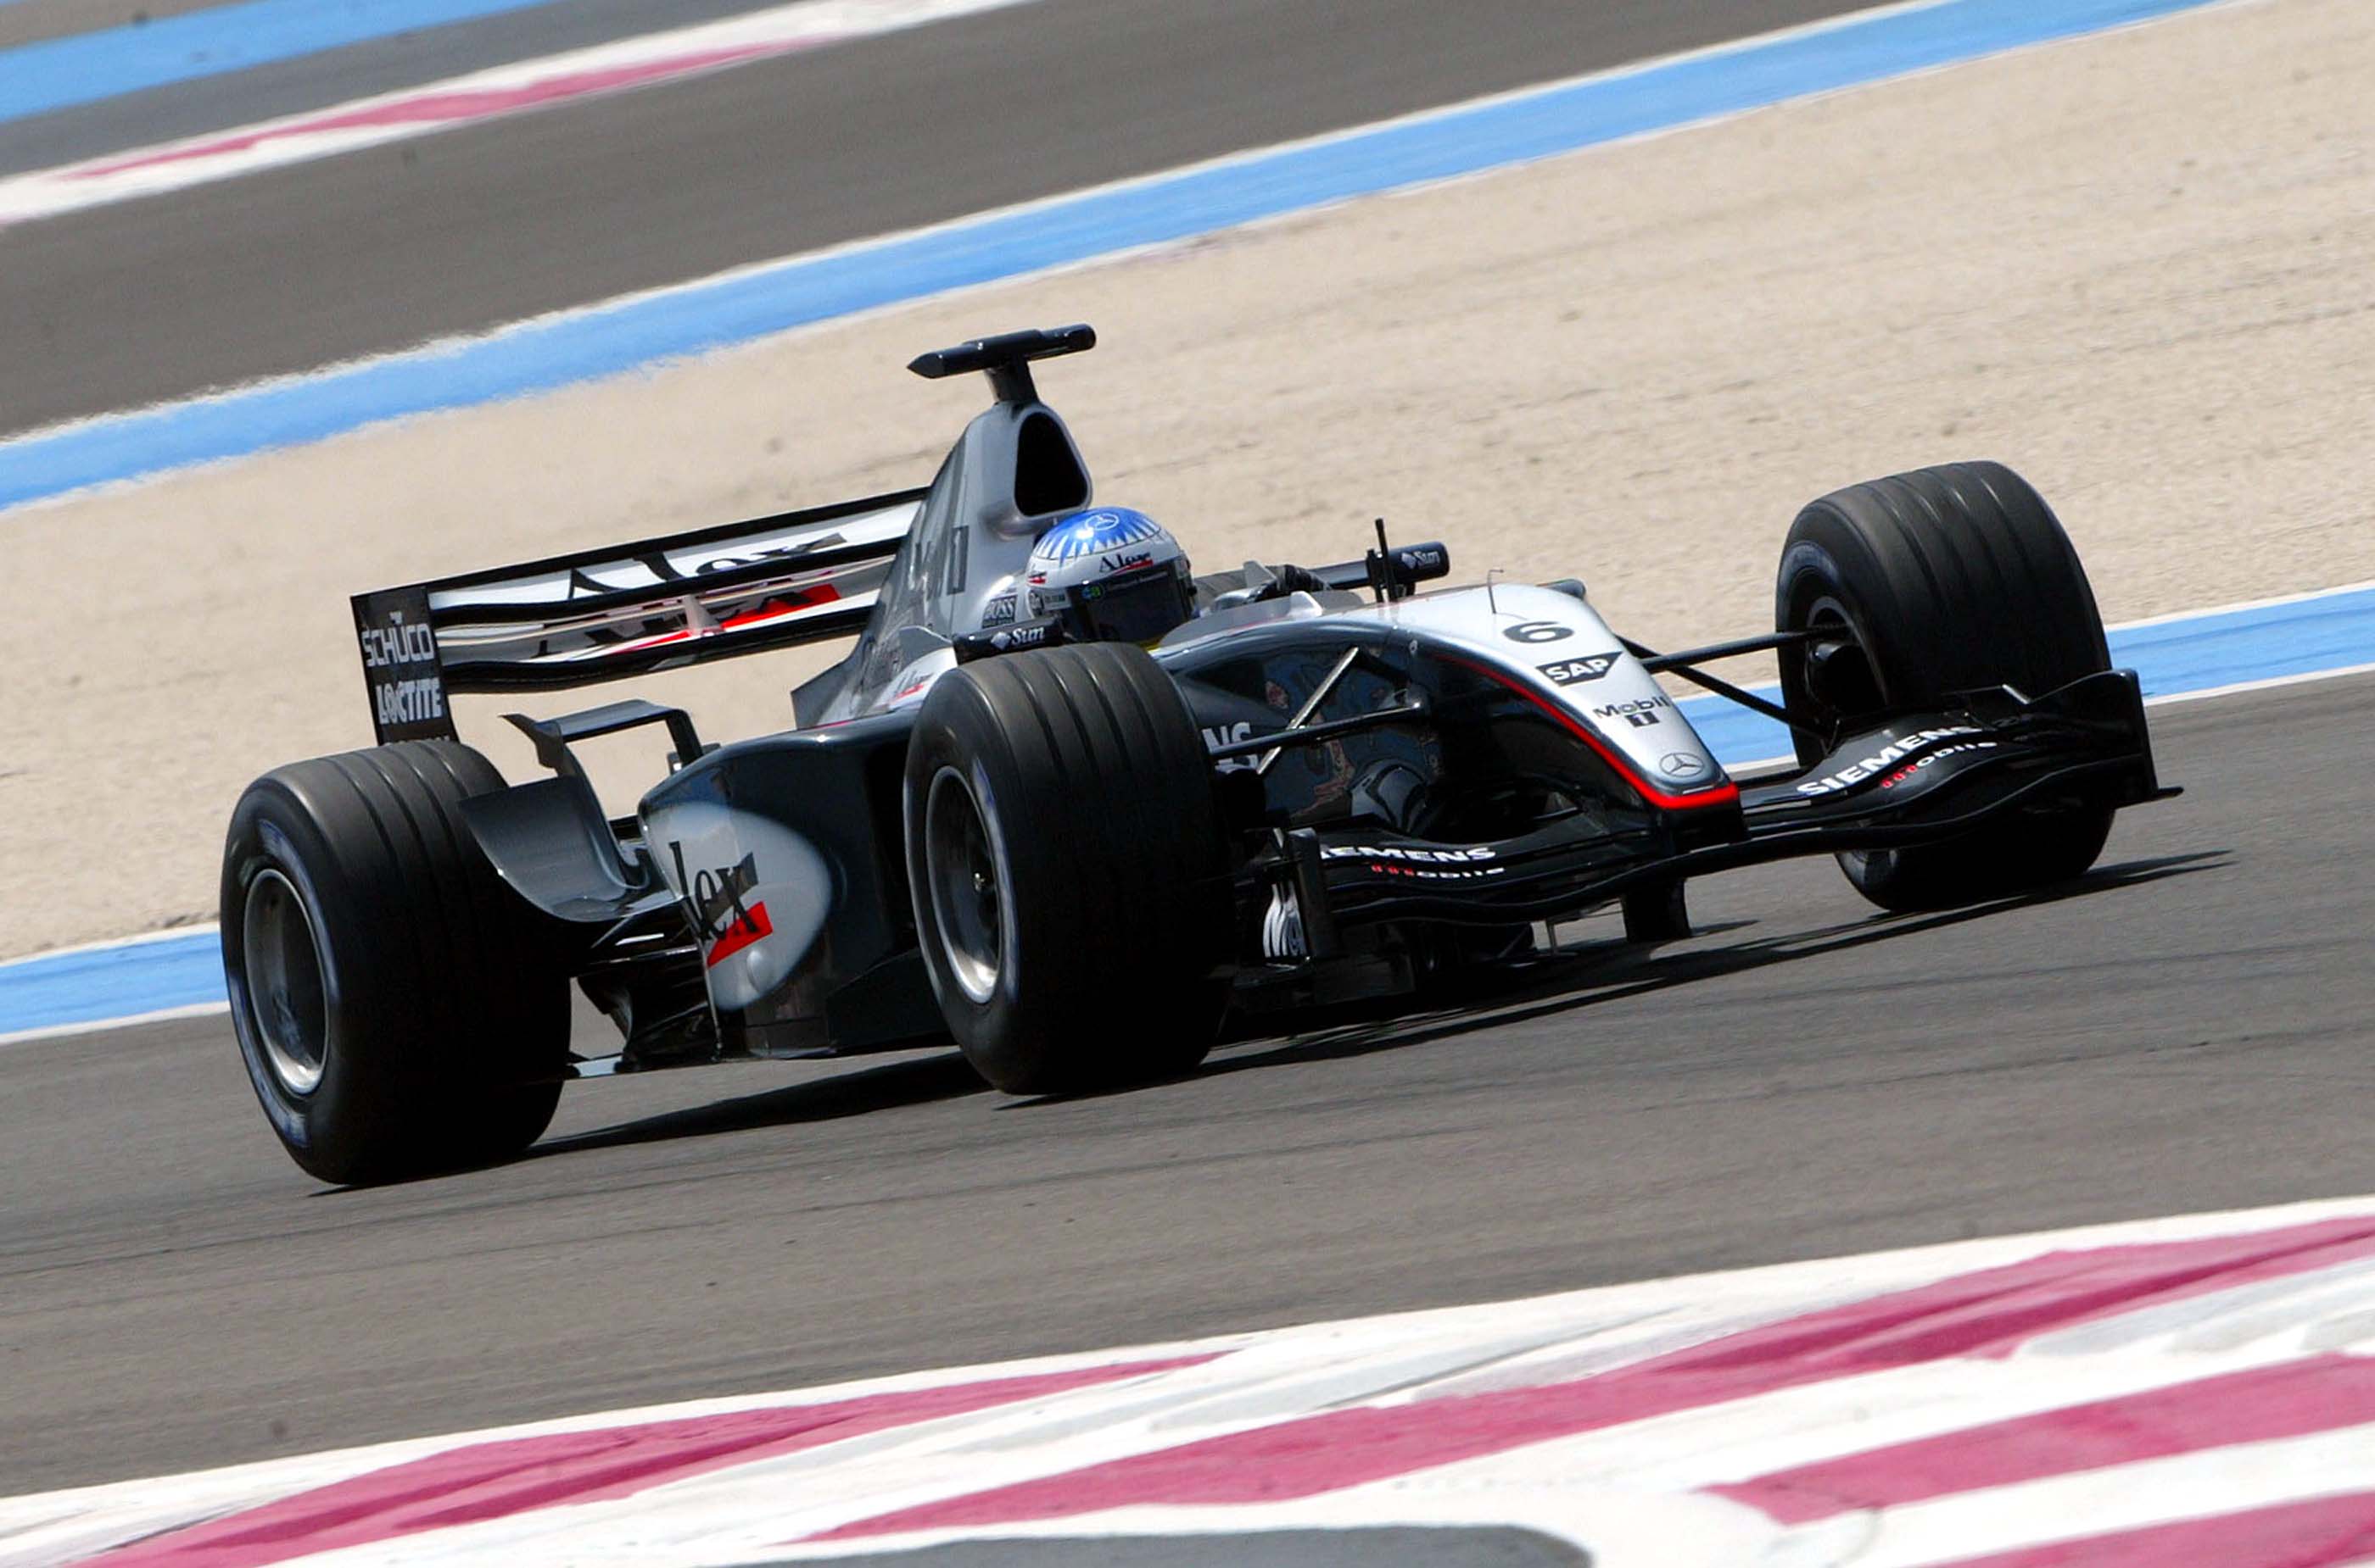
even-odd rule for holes
{"type": "Polygon", "coordinates": [[[722,1416],[684,1416],[542,1438],[499,1438],[370,1471],[261,1509],[133,1542],[95,1561],[104,1568],[254,1568],[292,1556],[508,1518],[530,1509],[632,1497],[646,1487],[734,1464],[862,1438],[895,1426],[962,1416],[993,1404],[1043,1400],[1216,1355],[1116,1362],[983,1383],[950,1383],[829,1404],[781,1404],[722,1416]]]}

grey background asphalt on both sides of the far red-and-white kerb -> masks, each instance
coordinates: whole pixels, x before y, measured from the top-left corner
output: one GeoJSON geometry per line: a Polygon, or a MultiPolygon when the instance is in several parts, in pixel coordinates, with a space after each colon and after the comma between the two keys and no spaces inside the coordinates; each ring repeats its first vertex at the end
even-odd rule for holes
{"type": "MultiPolygon", "coordinates": [[[[653,0],[596,9],[627,31],[653,0]]],[[[0,230],[0,434],[1850,9],[1503,0],[1477,26],[1442,0],[1036,0],[24,223],[0,230]]],[[[473,26],[511,52],[537,28],[589,40],[572,5],[473,26]]],[[[26,121],[0,164],[31,157],[12,138],[131,145],[126,116],[252,119],[238,93],[287,111],[321,97],[309,71],[399,47],[435,38],[26,121]]]]}

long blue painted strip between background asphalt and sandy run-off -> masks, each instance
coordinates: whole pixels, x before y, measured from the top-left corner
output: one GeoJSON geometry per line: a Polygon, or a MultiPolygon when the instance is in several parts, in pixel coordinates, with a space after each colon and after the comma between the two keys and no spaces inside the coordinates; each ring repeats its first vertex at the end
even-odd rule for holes
{"type": "Polygon", "coordinates": [[[765,266],[221,399],[0,444],[0,508],[741,344],[1325,202],[2069,38],[2211,0],[1940,0],[765,266]]]}

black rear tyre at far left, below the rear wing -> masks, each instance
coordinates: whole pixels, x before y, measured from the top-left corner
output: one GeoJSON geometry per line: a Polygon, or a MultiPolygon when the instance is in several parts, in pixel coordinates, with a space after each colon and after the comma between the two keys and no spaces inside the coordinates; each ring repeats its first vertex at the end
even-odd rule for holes
{"type": "Polygon", "coordinates": [[[323,1181],[506,1160],[553,1120],[560,949],[461,818],[501,788],[470,747],[408,740],[273,769],[230,816],[230,1022],[273,1132],[323,1181]]]}

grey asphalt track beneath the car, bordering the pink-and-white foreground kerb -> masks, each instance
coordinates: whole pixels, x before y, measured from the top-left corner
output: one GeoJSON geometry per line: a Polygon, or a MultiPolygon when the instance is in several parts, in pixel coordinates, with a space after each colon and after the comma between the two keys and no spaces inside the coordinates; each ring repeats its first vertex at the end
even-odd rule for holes
{"type": "MultiPolygon", "coordinates": [[[[0,1494],[710,1392],[2375,1191],[2375,678],[2154,709],[2066,892],[1829,861],[1537,992],[1009,1101],[950,1053],[580,1084],[325,1191],[221,1018],[0,1048],[0,1494]]],[[[1126,1018],[1114,1020],[1128,1030],[1126,1018]]]]}

